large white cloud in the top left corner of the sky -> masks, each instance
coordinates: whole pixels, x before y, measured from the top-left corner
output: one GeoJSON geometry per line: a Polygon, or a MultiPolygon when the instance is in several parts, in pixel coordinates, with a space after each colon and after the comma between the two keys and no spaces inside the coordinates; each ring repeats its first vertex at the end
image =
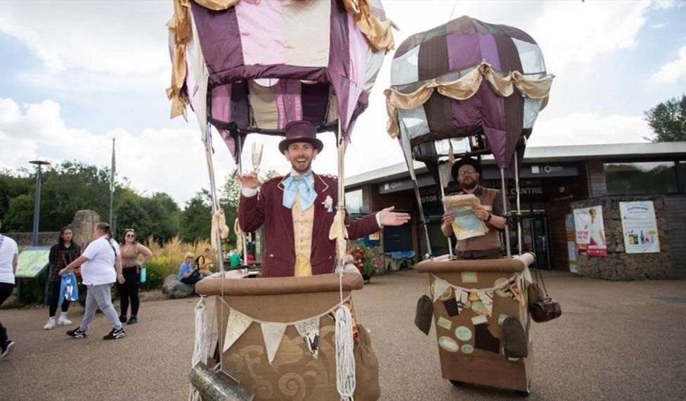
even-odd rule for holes
{"type": "Polygon", "coordinates": [[[60,91],[164,87],[171,13],[160,1],[3,1],[0,32],[44,63],[20,72],[25,84],[60,91]]]}

